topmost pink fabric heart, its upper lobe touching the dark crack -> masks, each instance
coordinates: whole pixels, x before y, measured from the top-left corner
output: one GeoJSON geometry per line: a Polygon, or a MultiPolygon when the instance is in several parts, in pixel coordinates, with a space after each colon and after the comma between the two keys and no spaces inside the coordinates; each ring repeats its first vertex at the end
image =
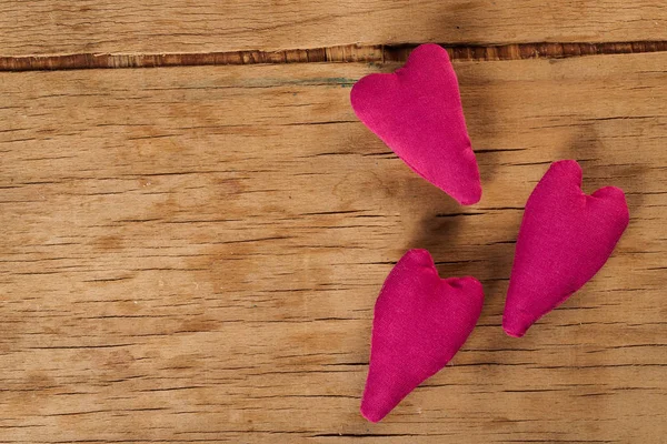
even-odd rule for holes
{"type": "Polygon", "coordinates": [[[395,73],[359,80],[350,101],[361,122],[415,172],[464,205],[479,202],[479,170],[445,49],[418,47],[395,73]]]}

